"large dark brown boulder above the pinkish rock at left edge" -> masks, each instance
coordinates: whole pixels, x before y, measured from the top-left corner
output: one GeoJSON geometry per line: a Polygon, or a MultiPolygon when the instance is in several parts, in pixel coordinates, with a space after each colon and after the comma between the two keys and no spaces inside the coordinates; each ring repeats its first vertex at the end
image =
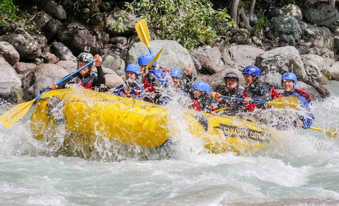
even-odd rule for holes
{"type": "Polygon", "coordinates": [[[41,56],[39,43],[25,31],[20,33],[9,33],[4,39],[13,45],[19,52],[20,59],[22,60],[33,60],[41,56]]]}

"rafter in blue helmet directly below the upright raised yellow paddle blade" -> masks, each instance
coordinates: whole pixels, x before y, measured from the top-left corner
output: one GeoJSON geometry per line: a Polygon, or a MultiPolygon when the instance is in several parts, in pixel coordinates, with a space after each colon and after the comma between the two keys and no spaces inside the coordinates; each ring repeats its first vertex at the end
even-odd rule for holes
{"type": "Polygon", "coordinates": [[[156,68],[157,62],[154,62],[149,68],[145,68],[153,59],[153,54],[142,54],[138,59],[146,95],[144,101],[161,105],[166,103],[162,101],[161,90],[168,86],[168,78],[160,68],[156,68]]]}

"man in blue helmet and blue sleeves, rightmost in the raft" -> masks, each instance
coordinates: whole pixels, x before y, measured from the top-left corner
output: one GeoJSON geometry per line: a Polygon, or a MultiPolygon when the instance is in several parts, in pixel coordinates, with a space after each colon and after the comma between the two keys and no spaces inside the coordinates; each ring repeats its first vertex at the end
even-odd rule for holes
{"type": "Polygon", "coordinates": [[[312,125],[315,118],[311,112],[310,106],[308,105],[308,101],[306,100],[306,98],[300,93],[296,92],[297,76],[294,73],[286,72],[281,77],[281,84],[284,88],[284,92],[280,95],[283,97],[297,97],[301,109],[305,110],[305,113],[307,115],[307,117],[299,115],[299,117],[294,121],[295,127],[302,127],[304,129],[307,129],[312,125]]]}

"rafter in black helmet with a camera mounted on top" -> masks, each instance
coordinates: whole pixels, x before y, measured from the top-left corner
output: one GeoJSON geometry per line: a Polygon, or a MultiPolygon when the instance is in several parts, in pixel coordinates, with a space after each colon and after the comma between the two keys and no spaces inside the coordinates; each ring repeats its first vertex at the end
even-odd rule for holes
{"type": "Polygon", "coordinates": [[[84,69],[80,70],[77,74],[69,77],[59,85],[56,85],[56,83],[53,82],[48,86],[48,88],[50,88],[51,90],[64,89],[67,83],[76,83],[80,84],[86,89],[94,90],[97,87],[101,87],[101,85],[105,85],[106,81],[101,67],[102,59],[99,54],[93,57],[93,55],[89,53],[89,49],[79,54],[77,58],[78,69],[85,66],[88,62],[93,61],[94,58],[96,59],[95,66],[97,67],[98,76],[92,73],[94,65],[89,65],[84,69]]]}

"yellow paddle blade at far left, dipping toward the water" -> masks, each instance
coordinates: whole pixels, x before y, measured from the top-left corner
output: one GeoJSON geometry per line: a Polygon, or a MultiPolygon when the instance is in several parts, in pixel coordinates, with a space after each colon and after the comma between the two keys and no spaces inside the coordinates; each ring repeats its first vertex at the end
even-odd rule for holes
{"type": "Polygon", "coordinates": [[[25,116],[35,101],[35,99],[32,99],[12,107],[0,116],[0,122],[5,127],[12,127],[15,122],[25,116]]]}

